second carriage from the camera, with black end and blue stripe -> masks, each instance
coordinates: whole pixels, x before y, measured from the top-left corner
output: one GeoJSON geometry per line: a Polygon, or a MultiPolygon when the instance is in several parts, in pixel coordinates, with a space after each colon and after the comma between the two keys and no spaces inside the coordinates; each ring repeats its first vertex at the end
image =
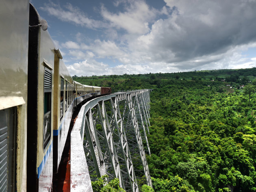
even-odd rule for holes
{"type": "Polygon", "coordinates": [[[73,80],[35,7],[30,4],[28,39],[28,192],[52,190],[74,102],[73,80]],[[35,184],[34,184],[35,183],[35,184]]]}

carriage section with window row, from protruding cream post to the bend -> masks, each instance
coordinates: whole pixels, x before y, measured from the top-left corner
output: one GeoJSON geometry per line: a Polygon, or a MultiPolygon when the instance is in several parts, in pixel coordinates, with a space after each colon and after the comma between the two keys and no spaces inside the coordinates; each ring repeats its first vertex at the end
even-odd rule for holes
{"type": "MultiPolygon", "coordinates": [[[[57,56],[57,55],[56,55],[57,56]]],[[[53,172],[58,171],[74,111],[73,80],[63,60],[55,56],[54,65],[54,123],[53,123],[53,172]]],[[[62,58],[60,56],[60,58],[62,58]]]]}

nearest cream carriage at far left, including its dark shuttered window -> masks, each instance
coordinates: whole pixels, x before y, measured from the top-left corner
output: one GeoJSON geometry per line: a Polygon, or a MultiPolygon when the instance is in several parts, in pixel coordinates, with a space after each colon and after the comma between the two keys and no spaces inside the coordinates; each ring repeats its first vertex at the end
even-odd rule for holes
{"type": "Polygon", "coordinates": [[[0,191],[21,192],[27,176],[29,0],[2,0],[0,17],[0,191]]]}

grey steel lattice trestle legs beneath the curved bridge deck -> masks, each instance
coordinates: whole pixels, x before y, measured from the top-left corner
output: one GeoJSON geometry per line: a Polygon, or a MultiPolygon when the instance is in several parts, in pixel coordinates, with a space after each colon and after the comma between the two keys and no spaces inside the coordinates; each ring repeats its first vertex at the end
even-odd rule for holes
{"type": "Polygon", "coordinates": [[[144,140],[150,155],[146,133],[149,134],[150,126],[150,91],[115,93],[85,104],[80,134],[82,140],[86,135],[83,142],[91,179],[95,179],[95,174],[97,177],[108,175],[109,179],[116,177],[126,191],[138,192],[138,175],[135,175],[132,159],[140,157],[139,162],[143,166],[141,171],[147,184],[152,186],[143,147],[144,140]],[[135,140],[128,140],[126,133],[128,136],[134,134],[135,140]],[[129,146],[137,148],[136,157],[131,156],[129,146]]]}

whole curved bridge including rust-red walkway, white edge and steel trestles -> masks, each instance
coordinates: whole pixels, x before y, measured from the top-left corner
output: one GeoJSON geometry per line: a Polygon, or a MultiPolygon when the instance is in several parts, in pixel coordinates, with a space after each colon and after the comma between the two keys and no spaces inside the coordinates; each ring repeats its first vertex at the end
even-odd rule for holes
{"type": "MultiPolygon", "coordinates": [[[[145,139],[148,145],[146,130],[148,131],[148,125],[150,126],[149,93],[150,90],[115,93],[97,97],[81,105],[81,109],[76,111],[77,117],[73,115],[74,119],[72,118],[69,127],[58,173],[53,175],[53,192],[93,192],[87,158],[93,159],[89,165],[90,168],[95,169],[93,173],[97,173],[97,177],[106,174],[110,177],[117,177],[122,188],[138,192],[136,181],[138,175],[135,174],[132,165],[133,160],[129,152],[130,144],[126,138],[126,134],[131,136],[129,132],[135,134],[132,137],[137,139],[135,141],[137,142],[137,153],[141,155],[146,182],[152,186],[141,140],[142,138],[145,139]],[[123,105],[121,106],[122,109],[130,110],[130,112],[120,113],[119,103],[123,105]],[[146,122],[146,127],[144,122],[146,122]],[[96,130],[96,124],[102,126],[102,131],[96,130]],[[132,126],[127,127],[127,125],[132,126]],[[130,131],[127,132],[125,129],[130,129],[130,131]],[[140,130],[145,133],[145,136],[140,134],[140,130]],[[85,134],[87,140],[86,144],[83,144],[85,134]],[[115,138],[113,138],[114,135],[115,138]],[[116,142],[118,137],[119,142],[116,142]],[[105,142],[104,146],[101,146],[100,142],[105,142]],[[119,145],[118,153],[115,145],[119,145]],[[87,151],[86,154],[85,151],[87,151]],[[124,166],[120,167],[120,163],[124,166]],[[107,173],[107,167],[112,169],[111,173],[107,173]]],[[[150,154],[149,146],[147,147],[150,154]]]]}

